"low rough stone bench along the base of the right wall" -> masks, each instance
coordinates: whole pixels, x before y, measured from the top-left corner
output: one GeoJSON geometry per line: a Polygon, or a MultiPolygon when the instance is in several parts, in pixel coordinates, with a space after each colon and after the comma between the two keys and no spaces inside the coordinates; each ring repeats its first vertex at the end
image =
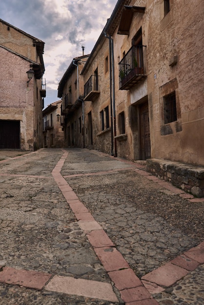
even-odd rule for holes
{"type": "Polygon", "coordinates": [[[163,159],[147,159],[147,172],[196,197],[204,197],[204,168],[163,159]]]}

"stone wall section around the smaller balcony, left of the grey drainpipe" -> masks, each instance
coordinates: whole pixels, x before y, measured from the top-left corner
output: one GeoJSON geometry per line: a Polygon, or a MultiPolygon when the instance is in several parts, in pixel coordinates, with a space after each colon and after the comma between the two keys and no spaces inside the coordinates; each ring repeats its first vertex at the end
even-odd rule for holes
{"type": "Polygon", "coordinates": [[[109,39],[103,38],[96,56],[92,58],[90,67],[83,73],[84,83],[98,68],[100,95],[94,101],[84,102],[85,147],[111,153],[111,108],[110,108],[110,69],[109,69],[109,39]],[[108,69],[105,70],[105,59],[108,57],[108,69]],[[109,128],[102,130],[100,112],[106,107],[109,110],[109,128]],[[92,138],[90,141],[90,125],[88,114],[92,116],[92,138]]]}

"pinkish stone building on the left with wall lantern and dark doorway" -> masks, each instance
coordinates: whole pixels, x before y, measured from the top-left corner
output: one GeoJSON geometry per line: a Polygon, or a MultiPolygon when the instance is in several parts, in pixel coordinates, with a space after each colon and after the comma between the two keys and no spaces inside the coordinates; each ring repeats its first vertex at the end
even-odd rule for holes
{"type": "Polygon", "coordinates": [[[43,41],[0,19],[0,149],[42,147],[43,50],[43,41]]]}

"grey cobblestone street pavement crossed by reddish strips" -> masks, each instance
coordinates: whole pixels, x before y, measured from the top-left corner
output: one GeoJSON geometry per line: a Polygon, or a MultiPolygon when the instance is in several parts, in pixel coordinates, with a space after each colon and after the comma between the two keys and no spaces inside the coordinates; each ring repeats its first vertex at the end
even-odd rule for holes
{"type": "Polygon", "coordinates": [[[114,278],[114,270],[132,269],[139,288],[147,287],[145,277],[150,272],[168,266],[165,264],[202,243],[202,199],[187,200],[181,190],[169,184],[164,187],[143,171],[142,162],[127,162],[97,151],[0,151],[0,160],[0,305],[204,304],[203,252],[195,267],[188,272],[185,269],[184,279],[180,277],[172,285],[155,284],[155,290],[149,290],[151,295],[144,296],[146,292],[140,289],[141,296],[134,300],[129,295],[135,286],[128,286],[125,295],[118,274],[114,278]],[[81,203],[82,213],[74,206],[81,203]],[[82,215],[94,218],[82,224],[77,221],[82,215]],[[96,246],[101,232],[110,239],[103,244],[106,248],[96,246]],[[101,249],[110,254],[118,251],[127,265],[107,267],[101,249]],[[9,270],[48,274],[50,282],[40,288],[20,285],[19,280],[11,285],[9,270]],[[79,287],[97,284],[100,289],[95,294],[79,292],[78,284],[73,284],[70,293],[57,287],[58,281],[63,286],[63,282],[72,284],[76,279],[79,287]],[[107,296],[100,294],[103,287],[109,291],[107,296]]]}

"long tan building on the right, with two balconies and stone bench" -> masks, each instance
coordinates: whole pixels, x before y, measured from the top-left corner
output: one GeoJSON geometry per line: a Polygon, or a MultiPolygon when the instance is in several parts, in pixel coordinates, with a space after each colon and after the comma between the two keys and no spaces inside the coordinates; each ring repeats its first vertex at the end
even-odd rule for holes
{"type": "Polygon", "coordinates": [[[198,196],[204,194],[202,12],[202,0],[118,0],[82,69],[83,146],[147,160],[147,170],[168,181],[179,177],[177,186],[198,196]],[[175,162],[168,173],[165,160],[175,162]],[[178,174],[182,164],[189,181],[178,174]]]}

